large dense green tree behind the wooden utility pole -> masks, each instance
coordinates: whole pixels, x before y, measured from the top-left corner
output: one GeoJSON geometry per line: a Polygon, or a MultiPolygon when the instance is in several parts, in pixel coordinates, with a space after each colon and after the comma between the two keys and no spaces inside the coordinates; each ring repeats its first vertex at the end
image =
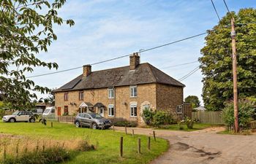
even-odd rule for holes
{"type": "MultiPolygon", "coordinates": [[[[256,9],[231,12],[236,23],[238,54],[238,94],[240,98],[256,93],[256,9]]],[[[199,58],[203,77],[203,101],[208,110],[224,108],[233,99],[230,15],[208,30],[206,46],[199,58]]]]}

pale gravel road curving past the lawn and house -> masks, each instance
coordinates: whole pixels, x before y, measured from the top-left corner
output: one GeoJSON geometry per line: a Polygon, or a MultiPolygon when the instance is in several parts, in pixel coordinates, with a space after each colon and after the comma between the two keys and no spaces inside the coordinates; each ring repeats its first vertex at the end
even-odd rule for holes
{"type": "MultiPolygon", "coordinates": [[[[124,128],[115,127],[124,131],[124,128]]],[[[148,128],[133,128],[135,133],[151,135],[148,128]]],[[[131,133],[132,128],[127,128],[131,133]]],[[[219,128],[181,132],[155,130],[156,135],[170,142],[170,149],[151,164],[255,164],[256,135],[217,134],[219,128]]]]}

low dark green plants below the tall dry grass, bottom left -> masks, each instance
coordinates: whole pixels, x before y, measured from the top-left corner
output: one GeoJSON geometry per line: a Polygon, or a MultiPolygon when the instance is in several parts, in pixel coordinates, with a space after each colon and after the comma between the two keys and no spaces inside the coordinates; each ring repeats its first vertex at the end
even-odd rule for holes
{"type": "Polygon", "coordinates": [[[20,157],[8,157],[4,164],[53,164],[62,163],[71,158],[70,153],[62,147],[51,147],[38,152],[26,152],[20,157]]]}

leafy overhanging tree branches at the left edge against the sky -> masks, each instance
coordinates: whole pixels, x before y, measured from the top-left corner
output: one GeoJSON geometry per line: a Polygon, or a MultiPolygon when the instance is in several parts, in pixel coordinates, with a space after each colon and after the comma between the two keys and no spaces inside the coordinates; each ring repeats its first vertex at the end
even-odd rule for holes
{"type": "Polygon", "coordinates": [[[37,55],[40,51],[47,52],[50,43],[57,39],[53,32],[54,24],[75,24],[73,20],[63,20],[58,16],[57,10],[64,2],[0,1],[0,93],[12,109],[31,108],[31,100],[37,98],[31,91],[50,91],[48,87],[35,85],[24,74],[38,66],[58,69],[57,63],[46,63],[37,55]]]}

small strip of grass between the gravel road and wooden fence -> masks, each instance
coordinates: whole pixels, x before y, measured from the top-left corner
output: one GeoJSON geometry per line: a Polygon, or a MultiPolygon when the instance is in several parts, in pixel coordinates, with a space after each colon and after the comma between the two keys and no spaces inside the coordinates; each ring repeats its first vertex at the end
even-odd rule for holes
{"type": "Polygon", "coordinates": [[[206,128],[211,128],[211,127],[216,127],[216,126],[222,126],[222,125],[213,125],[213,124],[206,124],[206,123],[194,123],[194,126],[192,129],[187,128],[187,125],[182,125],[183,130],[180,130],[178,128],[178,124],[173,124],[173,125],[164,125],[159,129],[162,130],[180,130],[180,131],[195,131],[195,130],[202,130],[206,128]]]}

